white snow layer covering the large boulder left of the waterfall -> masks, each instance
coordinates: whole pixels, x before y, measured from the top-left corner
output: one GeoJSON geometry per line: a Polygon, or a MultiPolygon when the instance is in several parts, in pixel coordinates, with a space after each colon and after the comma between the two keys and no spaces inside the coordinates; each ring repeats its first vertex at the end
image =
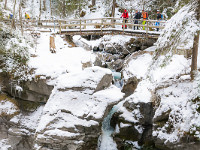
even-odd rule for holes
{"type": "MultiPolygon", "coordinates": [[[[107,106],[119,102],[124,95],[113,85],[95,92],[105,75],[111,75],[111,71],[100,67],[60,75],[43,109],[43,115],[37,127],[38,138],[47,134],[46,129],[48,129],[48,135],[55,135],[56,128],[75,128],[76,130],[77,125],[98,126],[97,120],[102,119],[107,106]]],[[[60,133],[57,135],[60,136],[60,133]]]]}

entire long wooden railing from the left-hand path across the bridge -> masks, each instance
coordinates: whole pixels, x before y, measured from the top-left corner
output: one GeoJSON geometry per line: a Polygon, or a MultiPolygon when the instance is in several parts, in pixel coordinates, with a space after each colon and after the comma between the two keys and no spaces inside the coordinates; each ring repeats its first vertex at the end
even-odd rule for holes
{"type": "MultiPolygon", "coordinates": [[[[32,26],[39,26],[44,28],[58,28],[60,33],[63,29],[76,29],[80,30],[80,32],[84,29],[122,29],[122,26],[127,26],[128,29],[133,29],[135,26],[138,27],[139,30],[145,30],[146,33],[149,31],[154,31],[156,28],[163,29],[165,26],[165,21],[158,21],[158,20],[146,20],[146,23],[142,25],[142,19],[125,19],[123,18],[94,18],[94,19],[68,19],[68,20],[37,20],[37,19],[23,19],[23,25],[32,25],[32,26]],[[138,21],[138,24],[135,24],[135,21],[138,21]],[[159,22],[159,26],[156,26],[156,22],[159,22]]],[[[11,23],[11,19],[4,19],[4,22],[11,23]]],[[[16,24],[20,24],[19,20],[16,20],[16,24]]],[[[125,31],[125,28],[123,28],[125,31]]]]}

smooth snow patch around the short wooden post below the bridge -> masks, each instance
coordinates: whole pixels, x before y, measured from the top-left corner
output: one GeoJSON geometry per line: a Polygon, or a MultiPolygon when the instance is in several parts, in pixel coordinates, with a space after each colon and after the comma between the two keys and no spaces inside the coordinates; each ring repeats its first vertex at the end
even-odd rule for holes
{"type": "Polygon", "coordinates": [[[95,56],[81,47],[69,48],[63,39],[56,35],[56,53],[49,50],[50,34],[42,34],[35,55],[29,61],[29,66],[35,68],[35,75],[45,75],[57,78],[61,74],[82,71],[82,61],[93,62],[95,56]]]}

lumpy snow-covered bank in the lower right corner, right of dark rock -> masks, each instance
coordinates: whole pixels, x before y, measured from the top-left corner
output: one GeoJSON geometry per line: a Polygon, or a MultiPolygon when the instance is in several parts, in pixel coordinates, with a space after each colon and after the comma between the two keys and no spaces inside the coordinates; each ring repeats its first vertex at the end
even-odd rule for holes
{"type": "Polygon", "coordinates": [[[169,112],[169,118],[164,126],[153,131],[153,136],[164,140],[165,143],[179,142],[180,138],[186,134],[194,134],[199,138],[200,113],[197,111],[199,102],[193,101],[197,93],[199,89],[194,88],[190,82],[174,84],[159,90],[161,102],[154,118],[166,112],[169,112]]]}

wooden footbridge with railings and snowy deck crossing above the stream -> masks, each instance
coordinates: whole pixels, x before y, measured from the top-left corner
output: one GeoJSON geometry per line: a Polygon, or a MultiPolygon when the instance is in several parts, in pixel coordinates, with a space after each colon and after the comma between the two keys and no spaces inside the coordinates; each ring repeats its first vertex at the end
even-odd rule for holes
{"type": "MultiPolygon", "coordinates": [[[[160,32],[165,26],[165,21],[159,21],[159,26],[156,26],[157,20],[146,20],[146,24],[142,25],[143,20],[138,20],[138,24],[134,24],[135,19],[122,18],[97,18],[97,19],[69,19],[69,20],[22,20],[24,28],[38,27],[49,28],[57,31],[57,33],[65,35],[131,35],[147,38],[158,38],[160,32]],[[127,26],[127,29],[122,26],[127,26]],[[139,30],[133,30],[133,27],[139,30]],[[143,29],[144,28],[144,29],[143,29]]],[[[4,22],[9,23],[7,19],[4,22]]],[[[20,22],[16,20],[16,25],[20,22]]]]}

